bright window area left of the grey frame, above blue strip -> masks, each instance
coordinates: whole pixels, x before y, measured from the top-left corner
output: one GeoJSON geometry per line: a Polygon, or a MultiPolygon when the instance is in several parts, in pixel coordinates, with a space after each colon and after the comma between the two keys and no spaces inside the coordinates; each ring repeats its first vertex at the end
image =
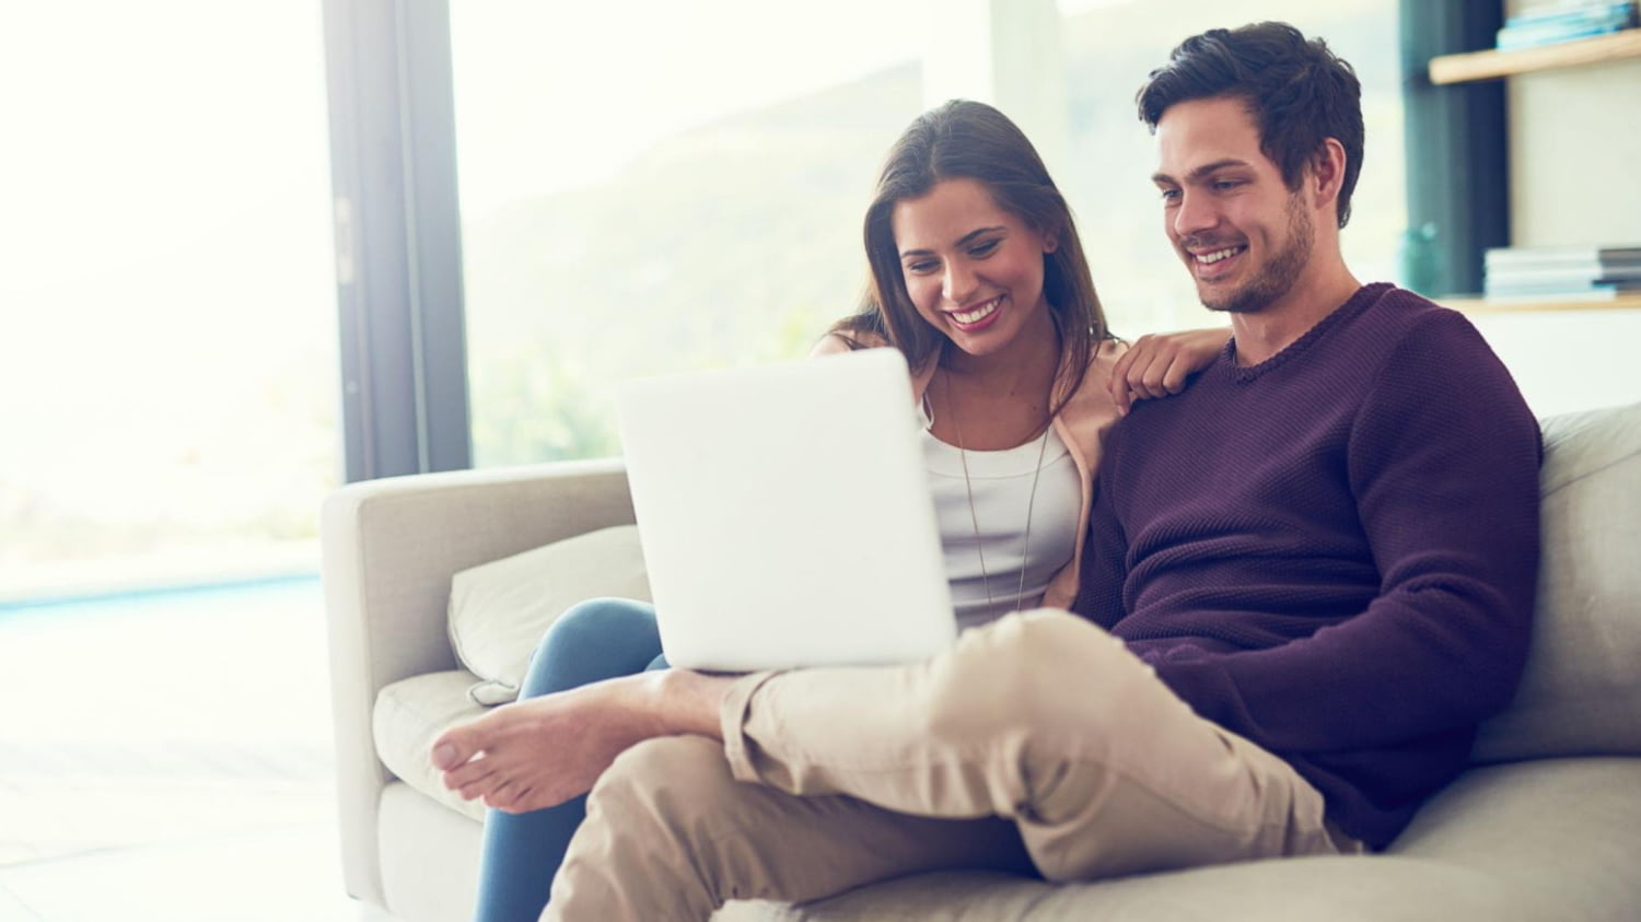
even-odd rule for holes
{"type": "Polygon", "coordinates": [[[320,48],[307,5],[0,13],[0,599],[317,568],[320,48]]]}

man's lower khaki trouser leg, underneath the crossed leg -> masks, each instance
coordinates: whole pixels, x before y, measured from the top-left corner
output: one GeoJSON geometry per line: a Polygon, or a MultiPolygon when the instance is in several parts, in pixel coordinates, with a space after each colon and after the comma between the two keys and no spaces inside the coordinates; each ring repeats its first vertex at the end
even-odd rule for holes
{"type": "Polygon", "coordinates": [[[702,920],[732,899],[804,902],[947,868],[1034,874],[1006,820],[799,797],[735,781],[715,740],[668,737],[599,779],[543,919],[702,920]]]}

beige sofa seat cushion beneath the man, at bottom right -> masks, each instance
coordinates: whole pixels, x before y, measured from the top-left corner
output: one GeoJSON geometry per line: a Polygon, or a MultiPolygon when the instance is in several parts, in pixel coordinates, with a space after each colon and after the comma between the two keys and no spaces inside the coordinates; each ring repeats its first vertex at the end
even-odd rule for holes
{"type": "Polygon", "coordinates": [[[921,874],[807,906],[730,904],[715,922],[1618,922],[1641,906],[1638,792],[1634,758],[1488,766],[1441,792],[1385,855],[1250,861],[1073,886],[921,874]]]}

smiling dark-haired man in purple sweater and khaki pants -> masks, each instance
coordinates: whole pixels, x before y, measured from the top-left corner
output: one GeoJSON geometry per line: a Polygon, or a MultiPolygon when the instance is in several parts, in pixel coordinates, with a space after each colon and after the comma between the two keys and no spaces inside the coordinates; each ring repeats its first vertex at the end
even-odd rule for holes
{"type": "Polygon", "coordinates": [[[1075,614],[907,668],[617,679],[440,740],[446,784],[502,809],[597,781],[548,917],[1395,838],[1520,676],[1539,443],[1460,315],[1346,267],[1359,95],[1277,23],[1186,39],[1140,92],[1167,235],[1234,340],[1109,436],[1075,614]]]}

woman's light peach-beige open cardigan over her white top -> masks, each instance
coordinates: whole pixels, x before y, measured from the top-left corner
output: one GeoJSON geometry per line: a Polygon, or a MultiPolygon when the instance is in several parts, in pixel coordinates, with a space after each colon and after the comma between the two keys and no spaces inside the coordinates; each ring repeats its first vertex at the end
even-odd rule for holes
{"type": "MultiPolygon", "coordinates": [[[[888,346],[888,343],[863,338],[860,333],[852,333],[852,336],[866,348],[888,346]]],[[[1111,369],[1116,366],[1118,356],[1126,349],[1124,343],[1101,343],[1093,361],[1088,364],[1088,374],[1083,376],[1083,386],[1076,389],[1076,394],[1054,417],[1054,431],[1072,453],[1072,463],[1076,464],[1083,489],[1081,509],[1076,513],[1076,548],[1072,553],[1072,563],[1054,574],[1054,579],[1049,581],[1049,589],[1042,596],[1042,604],[1050,609],[1068,609],[1076,599],[1078,568],[1083,563],[1083,543],[1088,540],[1088,510],[1095,500],[1095,469],[1099,466],[1099,446],[1106,430],[1118,420],[1118,405],[1111,400],[1106,384],[1111,381],[1111,369]]],[[[811,354],[827,356],[847,351],[852,351],[848,341],[832,333],[822,338],[811,354]]],[[[912,405],[922,404],[924,392],[929,390],[929,382],[934,379],[934,363],[929,363],[926,367],[912,371],[912,405]]]]}

